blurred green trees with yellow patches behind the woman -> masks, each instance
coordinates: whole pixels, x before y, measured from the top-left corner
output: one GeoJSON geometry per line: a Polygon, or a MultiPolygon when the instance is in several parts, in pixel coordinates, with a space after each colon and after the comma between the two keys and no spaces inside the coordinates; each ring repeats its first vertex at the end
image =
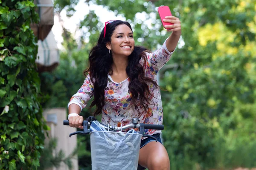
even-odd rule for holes
{"type": "MultiPolygon", "coordinates": [[[[161,92],[163,140],[172,170],[256,167],[256,0],[83,1],[124,17],[136,45],[152,51],[169,37],[157,7],[169,6],[179,17],[180,42],[159,72],[166,90],[161,92]]],[[[75,14],[79,0],[54,3],[61,20],[61,11],[75,14]]],[[[63,27],[60,64],[40,75],[44,108],[66,107],[81,87],[88,53],[103,27],[93,10],[78,23],[79,37],[63,27]]],[[[81,114],[90,115],[86,108],[81,114]]],[[[90,140],[78,137],[79,169],[89,170],[90,140]]]]}

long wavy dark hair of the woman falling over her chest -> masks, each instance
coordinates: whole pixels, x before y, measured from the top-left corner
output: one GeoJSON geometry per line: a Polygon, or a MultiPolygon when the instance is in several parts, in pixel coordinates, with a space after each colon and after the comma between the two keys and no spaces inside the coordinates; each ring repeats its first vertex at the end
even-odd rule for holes
{"type": "MultiPolygon", "coordinates": [[[[90,105],[90,109],[96,105],[94,116],[102,113],[102,108],[105,105],[105,88],[108,84],[108,74],[112,73],[113,58],[111,53],[106,47],[107,42],[111,42],[111,36],[117,26],[125,24],[129,28],[131,25],[128,22],[116,20],[111,24],[106,25],[106,35],[104,38],[104,29],[102,30],[96,46],[94,46],[89,54],[89,68],[84,71],[90,75],[91,82],[94,86],[93,96],[94,99],[90,105]]],[[[131,28],[132,31],[132,28],[131,28]]],[[[140,64],[141,57],[146,62],[146,54],[149,52],[146,48],[135,46],[134,51],[128,57],[128,65],[126,73],[130,79],[128,88],[131,92],[131,104],[139,111],[139,106],[143,106],[145,111],[148,110],[148,104],[152,104],[150,96],[153,96],[149,91],[148,85],[153,84],[157,88],[157,83],[145,76],[143,65],[140,64]]],[[[144,63],[145,64],[145,63],[144,63]]]]}

